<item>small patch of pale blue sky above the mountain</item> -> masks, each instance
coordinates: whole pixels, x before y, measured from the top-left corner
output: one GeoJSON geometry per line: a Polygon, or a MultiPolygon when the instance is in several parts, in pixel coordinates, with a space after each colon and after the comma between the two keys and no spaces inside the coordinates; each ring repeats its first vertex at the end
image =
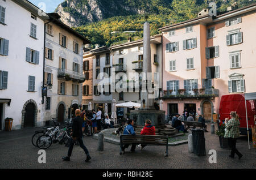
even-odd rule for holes
{"type": "Polygon", "coordinates": [[[44,12],[53,12],[56,7],[64,0],[28,0],[35,6],[38,6],[44,12]]]}

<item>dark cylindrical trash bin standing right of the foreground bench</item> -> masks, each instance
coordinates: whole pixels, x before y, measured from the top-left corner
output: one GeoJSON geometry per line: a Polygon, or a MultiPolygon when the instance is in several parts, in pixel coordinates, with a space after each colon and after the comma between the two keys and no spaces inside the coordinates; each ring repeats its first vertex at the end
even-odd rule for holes
{"type": "Polygon", "coordinates": [[[192,129],[192,142],[193,142],[193,153],[197,156],[205,156],[205,139],[204,130],[192,129]]]}

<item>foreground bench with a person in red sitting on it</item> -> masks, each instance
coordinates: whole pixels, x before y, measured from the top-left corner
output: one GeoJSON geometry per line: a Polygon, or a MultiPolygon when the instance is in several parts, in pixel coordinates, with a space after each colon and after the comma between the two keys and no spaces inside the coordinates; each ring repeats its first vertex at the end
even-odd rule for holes
{"type": "Polygon", "coordinates": [[[122,147],[125,144],[130,145],[166,145],[165,157],[168,157],[168,136],[155,135],[120,135],[120,155],[122,155],[122,147]]]}

